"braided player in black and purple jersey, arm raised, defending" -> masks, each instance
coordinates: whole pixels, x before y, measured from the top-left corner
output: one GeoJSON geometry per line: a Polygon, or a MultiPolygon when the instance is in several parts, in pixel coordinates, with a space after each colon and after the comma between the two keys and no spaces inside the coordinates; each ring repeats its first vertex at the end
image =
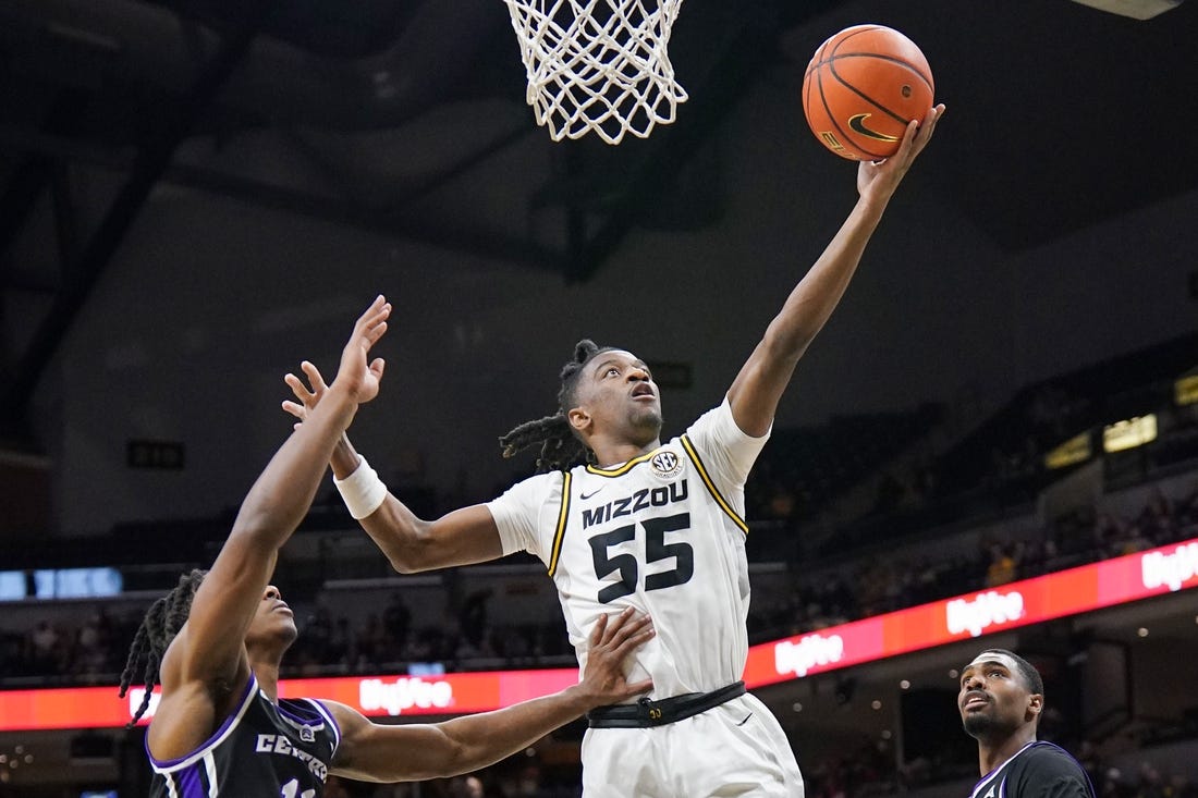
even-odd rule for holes
{"type": "Polygon", "coordinates": [[[579,684],[492,713],[391,726],[333,701],[278,697],[279,663],[297,630],[268,582],[334,445],[358,406],[379,392],[383,361],[368,355],[389,314],[380,296],[358,319],[325,401],[254,483],[212,568],[184,575],[138,630],[121,695],[140,673],[146,697],[135,721],[162,683],[145,742],[155,796],[316,798],[329,773],[368,781],[466,773],[594,707],[652,688],[623,676],[624,658],[653,635],[648,618],[624,612],[600,624],[600,657],[592,657],[579,684]]]}

